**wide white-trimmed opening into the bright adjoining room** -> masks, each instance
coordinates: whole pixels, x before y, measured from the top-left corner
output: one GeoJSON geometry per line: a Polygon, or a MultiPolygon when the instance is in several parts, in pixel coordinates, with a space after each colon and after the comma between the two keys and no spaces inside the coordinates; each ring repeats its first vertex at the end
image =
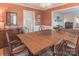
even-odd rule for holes
{"type": "Polygon", "coordinates": [[[79,29],[79,8],[52,12],[52,27],[61,25],[65,29],[79,29]]]}

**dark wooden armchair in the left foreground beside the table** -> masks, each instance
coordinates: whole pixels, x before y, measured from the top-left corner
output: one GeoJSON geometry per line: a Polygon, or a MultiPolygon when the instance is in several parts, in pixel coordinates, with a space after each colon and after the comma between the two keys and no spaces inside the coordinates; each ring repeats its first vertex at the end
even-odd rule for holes
{"type": "Polygon", "coordinates": [[[20,45],[13,47],[14,42],[11,42],[9,37],[9,33],[6,32],[6,38],[7,38],[7,45],[8,45],[8,55],[9,56],[27,56],[29,55],[28,49],[26,49],[25,45],[23,43],[20,43],[20,45]]]}

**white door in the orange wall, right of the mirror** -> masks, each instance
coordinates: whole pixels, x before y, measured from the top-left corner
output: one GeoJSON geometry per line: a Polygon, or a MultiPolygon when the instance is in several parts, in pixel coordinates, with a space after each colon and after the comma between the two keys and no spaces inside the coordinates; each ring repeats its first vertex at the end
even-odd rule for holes
{"type": "Polygon", "coordinates": [[[24,23],[23,23],[24,32],[27,32],[27,28],[29,32],[33,32],[35,26],[35,12],[24,10],[23,13],[24,13],[24,23]]]}

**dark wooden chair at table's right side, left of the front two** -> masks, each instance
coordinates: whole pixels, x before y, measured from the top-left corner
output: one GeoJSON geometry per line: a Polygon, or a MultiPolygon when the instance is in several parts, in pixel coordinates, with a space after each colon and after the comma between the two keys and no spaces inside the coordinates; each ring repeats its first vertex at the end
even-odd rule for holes
{"type": "Polygon", "coordinates": [[[66,46],[66,42],[64,41],[64,39],[59,40],[54,45],[54,55],[64,56],[65,55],[65,46],[66,46]]]}

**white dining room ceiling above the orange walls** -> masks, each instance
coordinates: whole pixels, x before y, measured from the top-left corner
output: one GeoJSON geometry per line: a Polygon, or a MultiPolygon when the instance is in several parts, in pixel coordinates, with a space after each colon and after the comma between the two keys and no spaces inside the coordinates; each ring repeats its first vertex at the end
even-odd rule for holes
{"type": "Polygon", "coordinates": [[[17,5],[45,10],[51,7],[63,5],[65,3],[17,3],[17,5]]]}

